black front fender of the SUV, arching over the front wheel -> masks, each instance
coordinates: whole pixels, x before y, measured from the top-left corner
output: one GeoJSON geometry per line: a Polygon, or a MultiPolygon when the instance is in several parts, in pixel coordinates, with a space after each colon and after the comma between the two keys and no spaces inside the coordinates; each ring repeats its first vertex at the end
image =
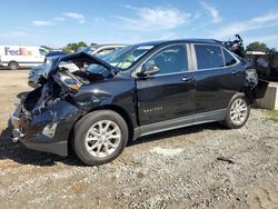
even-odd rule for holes
{"type": "Polygon", "coordinates": [[[135,80],[125,77],[81,87],[72,99],[86,112],[102,107],[119,107],[137,122],[137,100],[135,80]]]}

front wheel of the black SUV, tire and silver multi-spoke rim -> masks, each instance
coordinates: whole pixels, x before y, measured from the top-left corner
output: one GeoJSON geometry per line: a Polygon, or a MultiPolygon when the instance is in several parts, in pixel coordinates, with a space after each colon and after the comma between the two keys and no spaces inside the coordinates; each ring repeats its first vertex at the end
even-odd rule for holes
{"type": "Polygon", "coordinates": [[[72,147],[83,163],[99,166],[112,161],[123,151],[128,136],[128,126],[120,115],[98,110],[76,123],[72,147]]]}

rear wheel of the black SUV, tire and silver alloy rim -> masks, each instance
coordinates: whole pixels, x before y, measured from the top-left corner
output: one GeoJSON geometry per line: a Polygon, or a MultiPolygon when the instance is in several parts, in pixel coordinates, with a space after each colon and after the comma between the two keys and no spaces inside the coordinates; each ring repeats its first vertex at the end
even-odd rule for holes
{"type": "Polygon", "coordinates": [[[250,104],[244,93],[235,94],[228,106],[224,126],[229,129],[241,128],[250,115],[250,104]]]}

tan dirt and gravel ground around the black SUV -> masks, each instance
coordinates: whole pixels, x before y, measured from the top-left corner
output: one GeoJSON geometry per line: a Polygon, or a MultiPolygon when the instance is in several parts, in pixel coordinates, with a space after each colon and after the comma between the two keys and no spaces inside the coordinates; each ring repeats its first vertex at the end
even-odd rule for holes
{"type": "Polygon", "coordinates": [[[0,71],[0,208],[278,208],[278,122],[252,110],[218,123],[145,137],[113,162],[27,150],[9,140],[27,70],[0,71]]]}

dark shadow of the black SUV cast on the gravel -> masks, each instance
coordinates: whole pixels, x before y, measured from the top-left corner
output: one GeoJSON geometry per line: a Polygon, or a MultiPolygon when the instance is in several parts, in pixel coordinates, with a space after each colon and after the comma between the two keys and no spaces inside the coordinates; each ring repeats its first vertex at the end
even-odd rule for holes
{"type": "MultiPolygon", "coordinates": [[[[151,142],[157,140],[163,140],[169,137],[200,132],[206,129],[219,130],[225,128],[222,128],[222,126],[220,126],[217,122],[180,128],[176,130],[141,137],[136,141],[129,142],[128,147],[139,146],[140,143],[151,142]]],[[[46,166],[51,167],[54,166],[57,162],[61,162],[68,166],[86,166],[73,155],[71,150],[68,157],[60,157],[52,153],[44,153],[44,152],[29,150],[20,142],[13,143],[10,140],[11,131],[12,131],[12,126],[11,122],[8,121],[8,127],[0,135],[0,161],[10,159],[21,165],[33,165],[42,167],[46,166]]]]}

